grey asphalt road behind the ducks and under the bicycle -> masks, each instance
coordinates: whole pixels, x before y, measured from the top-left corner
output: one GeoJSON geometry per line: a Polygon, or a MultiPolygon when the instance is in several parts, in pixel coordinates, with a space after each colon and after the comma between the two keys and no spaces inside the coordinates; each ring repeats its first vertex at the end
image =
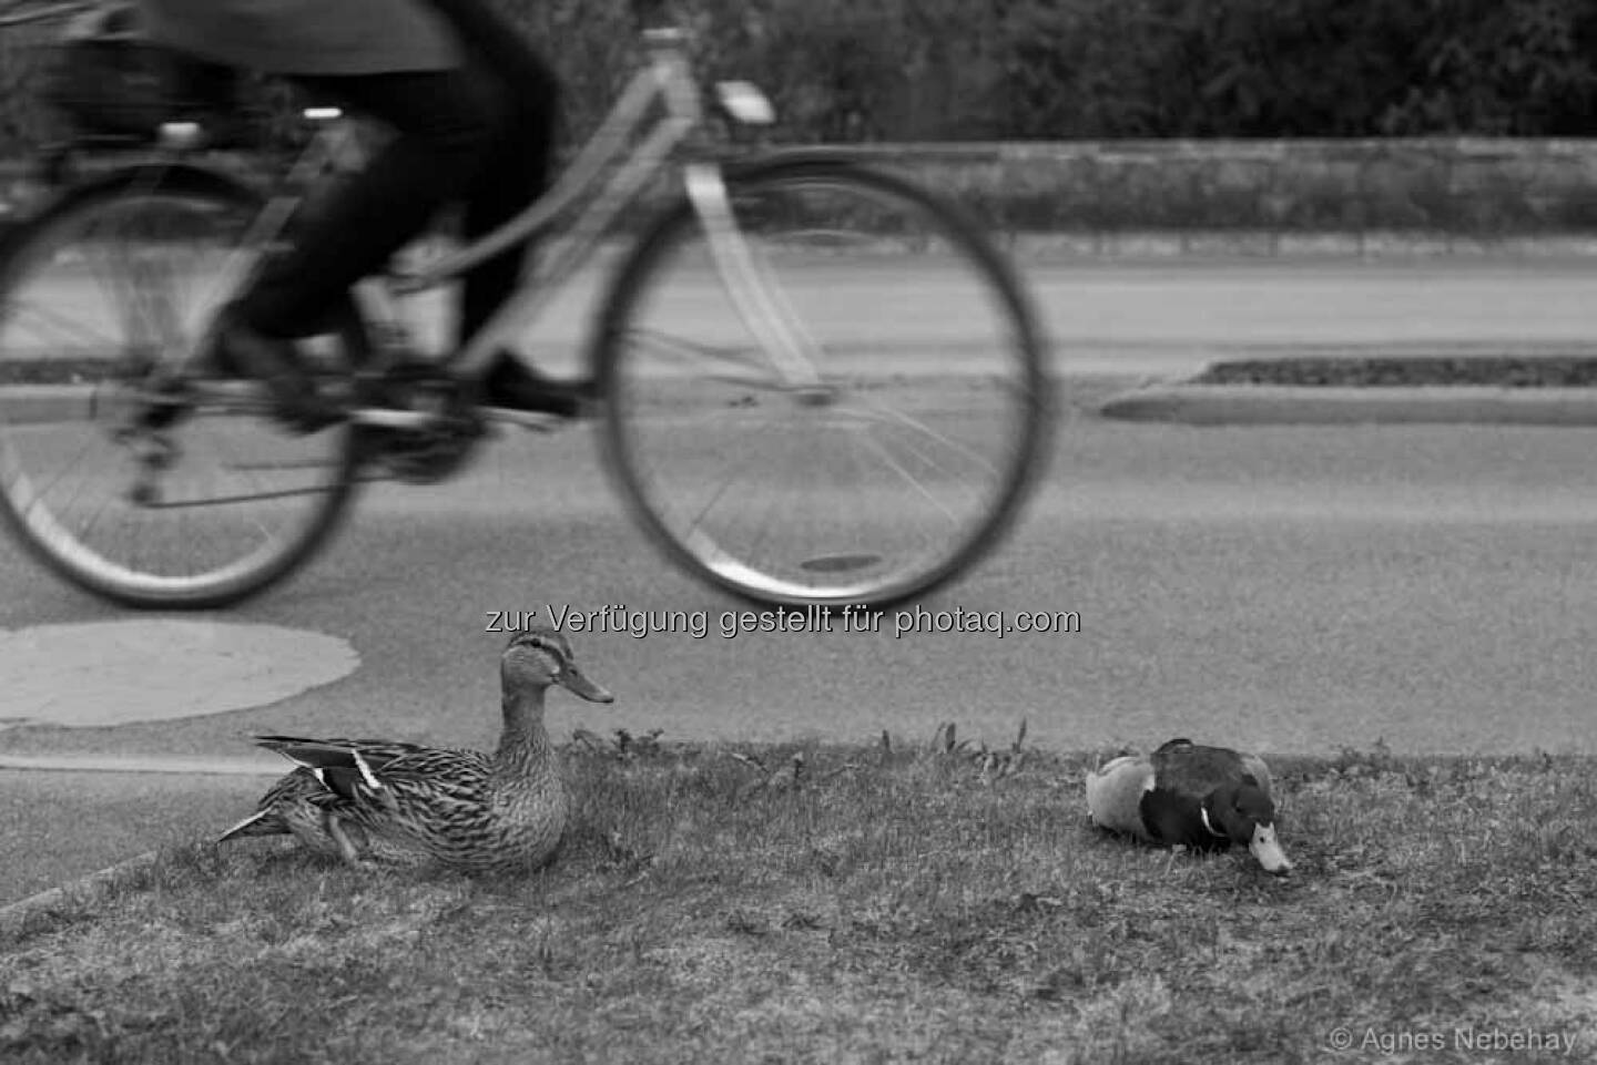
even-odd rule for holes
{"type": "MultiPolygon", "coordinates": [[[[1294,337],[1359,346],[1391,331],[1393,343],[1461,350],[1597,337],[1586,271],[1555,263],[1110,263],[1041,271],[1036,284],[1067,356],[1099,351],[1132,375],[1196,366],[1212,345],[1294,337]]],[[[252,731],[489,744],[505,637],[484,632],[487,615],[605,604],[706,612],[712,631],[575,637],[616,703],[554,695],[557,736],[581,725],[663,728],[668,739],[870,741],[890,730],[923,741],[953,720],[997,744],[1025,719],[1032,742],[1064,749],[1188,734],[1266,752],[1385,741],[1592,754],[1594,453],[1591,430],[1076,418],[1012,540],[925,607],[1011,620],[1072,610],[1080,632],[894,635],[890,618],[875,634],[725,639],[715,620],[739,604],[661,560],[608,489],[588,430],[519,434],[457,482],[372,490],[311,568],[217,615],[347,637],[363,659],[351,675],[179,722],[13,728],[0,754],[236,755],[252,731]]],[[[0,549],[0,628],[126,616],[11,549],[0,549]]],[[[18,870],[0,875],[0,899],[145,849],[174,825],[219,829],[251,790],[235,778],[121,792],[104,778],[96,806],[32,776],[0,774],[18,870]],[[102,818],[113,792],[118,813],[102,818]],[[93,846],[64,845],[70,819],[85,825],[73,840],[93,846]]]]}

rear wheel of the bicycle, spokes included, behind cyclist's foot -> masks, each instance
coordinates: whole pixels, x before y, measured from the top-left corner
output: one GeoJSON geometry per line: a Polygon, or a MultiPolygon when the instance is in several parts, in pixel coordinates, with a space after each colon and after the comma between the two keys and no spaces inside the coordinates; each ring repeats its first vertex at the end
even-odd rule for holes
{"type": "MultiPolygon", "coordinates": [[[[292,434],[243,382],[208,399],[184,386],[216,308],[279,236],[260,209],[211,171],[129,168],[0,249],[0,517],[96,596],[238,602],[300,565],[350,503],[348,430],[292,434]]],[[[353,308],[339,319],[307,343],[329,367],[364,343],[353,308]]]]}

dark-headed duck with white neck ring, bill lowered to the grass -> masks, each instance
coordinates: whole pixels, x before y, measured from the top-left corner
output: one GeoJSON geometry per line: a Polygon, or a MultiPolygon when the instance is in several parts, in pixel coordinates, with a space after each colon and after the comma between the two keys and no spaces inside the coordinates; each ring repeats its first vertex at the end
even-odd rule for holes
{"type": "Polygon", "coordinates": [[[1179,738],[1151,755],[1129,754],[1089,771],[1088,816],[1100,829],[1195,851],[1246,846],[1265,872],[1292,862],[1276,838],[1270,766],[1230,747],[1179,738]]]}

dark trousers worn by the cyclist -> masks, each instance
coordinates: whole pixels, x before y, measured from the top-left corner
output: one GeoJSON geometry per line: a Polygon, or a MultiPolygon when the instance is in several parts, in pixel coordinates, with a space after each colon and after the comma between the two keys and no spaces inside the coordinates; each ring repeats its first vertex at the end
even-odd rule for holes
{"type": "MultiPolygon", "coordinates": [[[[295,78],[315,96],[388,125],[394,136],[329,193],[294,249],[244,294],[240,313],[251,327],[300,335],[446,204],[463,204],[462,236],[470,241],[545,188],[559,102],[553,72],[485,0],[428,2],[466,48],[460,69],[295,78]]],[[[514,291],[524,254],[513,247],[466,275],[462,343],[514,291]]]]}

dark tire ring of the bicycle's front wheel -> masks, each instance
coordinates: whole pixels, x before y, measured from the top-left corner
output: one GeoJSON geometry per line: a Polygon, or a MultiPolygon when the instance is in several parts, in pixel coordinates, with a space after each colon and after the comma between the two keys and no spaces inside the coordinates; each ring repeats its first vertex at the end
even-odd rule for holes
{"type": "MultiPolygon", "coordinates": [[[[1030,300],[1008,260],[993,247],[985,232],[963,209],[925,187],[890,171],[862,166],[835,155],[792,153],[789,158],[733,163],[723,168],[723,182],[733,200],[784,184],[862,190],[866,195],[891,198],[925,214],[939,230],[939,240],[971,271],[976,283],[992,297],[995,318],[1011,337],[1008,358],[1012,361],[1017,396],[1012,414],[1017,425],[1014,445],[1001,458],[992,497],[953,541],[936,551],[923,564],[891,575],[824,580],[779,578],[757,562],[736,557],[720,543],[706,544],[699,532],[684,532],[666,516],[668,500],[648,485],[645,444],[634,439],[639,425],[620,394],[632,345],[639,307],[672,252],[693,240],[698,217],[684,195],[669,204],[642,233],[629,255],[616,270],[608,292],[600,302],[594,346],[589,353],[602,402],[600,441],[605,466],[634,517],[648,538],[677,565],[696,578],[733,596],[765,607],[864,607],[883,610],[904,600],[923,597],[960,576],[993,551],[1012,529],[1022,505],[1040,479],[1049,452],[1054,415],[1054,380],[1048,345],[1036,324],[1030,300]]],[[[835,557],[835,556],[832,556],[835,557]]],[[[869,562],[869,560],[867,560],[869,562]]],[[[830,564],[830,562],[829,562],[830,564]]],[[[808,565],[808,562],[805,562],[808,565]]],[[[845,559],[840,567],[850,565],[845,559]]]]}

